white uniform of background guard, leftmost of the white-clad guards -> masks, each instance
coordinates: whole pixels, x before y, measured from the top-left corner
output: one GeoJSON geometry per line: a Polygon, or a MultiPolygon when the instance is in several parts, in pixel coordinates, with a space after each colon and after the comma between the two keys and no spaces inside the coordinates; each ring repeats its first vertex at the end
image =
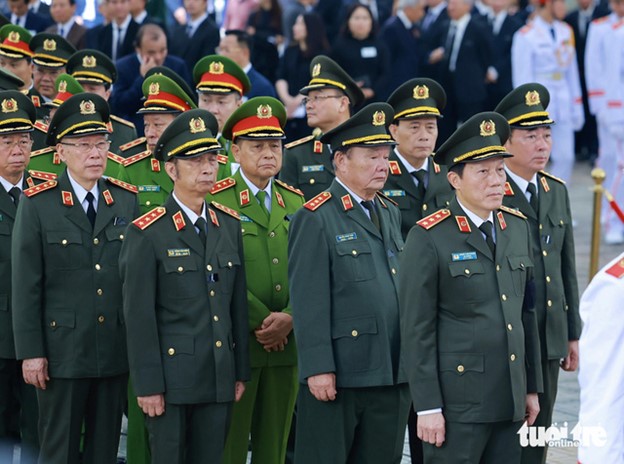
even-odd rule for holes
{"type": "Polygon", "coordinates": [[[513,86],[538,82],[550,92],[552,126],[550,171],[568,182],[574,167],[574,131],[585,124],[574,33],[562,21],[535,19],[514,34],[511,47],[513,86]]]}

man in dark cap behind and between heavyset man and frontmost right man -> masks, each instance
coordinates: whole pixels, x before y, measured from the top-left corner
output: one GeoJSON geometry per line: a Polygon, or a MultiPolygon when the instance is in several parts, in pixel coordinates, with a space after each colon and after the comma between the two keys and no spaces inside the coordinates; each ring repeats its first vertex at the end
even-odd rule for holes
{"type": "Polygon", "coordinates": [[[394,109],[390,134],[397,146],[390,153],[390,174],[383,192],[401,210],[405,238],[427,211],[448,206],[452,196],[446,167],[435,163],[432,155],[446,94],[434,80],[412,79],[392,93],[388,104],[394,109]]]}

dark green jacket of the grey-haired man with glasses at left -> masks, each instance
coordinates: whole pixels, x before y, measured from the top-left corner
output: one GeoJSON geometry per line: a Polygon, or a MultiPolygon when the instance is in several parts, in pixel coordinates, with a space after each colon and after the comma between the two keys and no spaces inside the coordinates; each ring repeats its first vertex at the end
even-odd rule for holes
{"type": "Polygon", "coordinates": [[[67,173],[52,183],[22,198],[15,221],[17,358],[47,357],[53,378],[122,374],[128,362],[118,259],[138,213],[136,194],[100,179],[92,229],[67,173]]]}

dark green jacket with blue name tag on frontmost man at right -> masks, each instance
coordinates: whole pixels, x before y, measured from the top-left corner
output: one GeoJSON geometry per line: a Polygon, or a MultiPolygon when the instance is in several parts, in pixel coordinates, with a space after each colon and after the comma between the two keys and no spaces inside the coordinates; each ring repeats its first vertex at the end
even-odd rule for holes
{"type": "Polygon", "coordinates": [[[456,199],[430,218],[429,230],[412,228],[401,256],[401,336],[414,410],[441,407],[455,422],[522,420],[527,393],[542,390],[535,310],[525,301],[528,224],[495,212],[494,258],[456,199]]]}

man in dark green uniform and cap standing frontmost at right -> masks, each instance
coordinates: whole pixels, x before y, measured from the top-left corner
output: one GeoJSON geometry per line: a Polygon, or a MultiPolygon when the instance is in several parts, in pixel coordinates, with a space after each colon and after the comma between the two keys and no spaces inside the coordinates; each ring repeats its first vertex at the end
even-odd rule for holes
{"type": "Polygon", "coordinates": [[[519,463],[541,391],[526,218],[502,206],[507,121],[479,113],[440,147],[455,198],[401,257],[401,340],[425,463],[519,463]]]}

